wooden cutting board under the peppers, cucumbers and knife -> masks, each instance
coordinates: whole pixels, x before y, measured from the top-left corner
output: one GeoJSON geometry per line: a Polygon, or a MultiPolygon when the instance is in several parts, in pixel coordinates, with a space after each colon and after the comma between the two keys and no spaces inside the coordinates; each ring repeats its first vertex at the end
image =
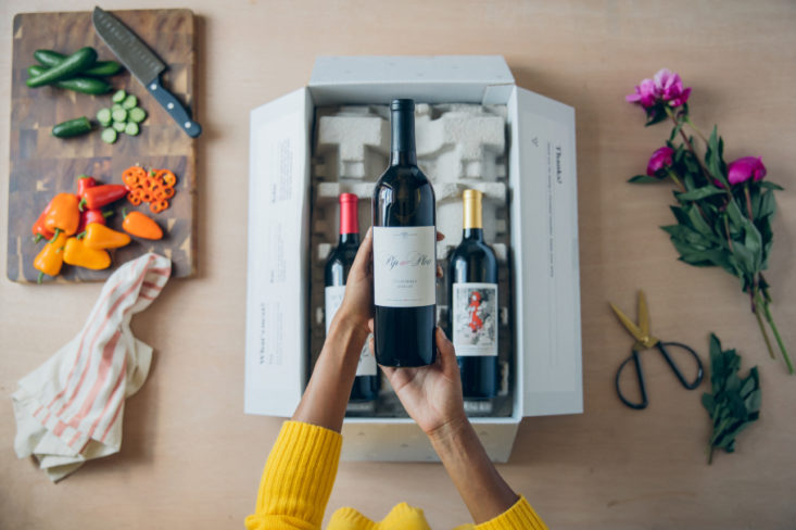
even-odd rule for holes
{"type": "MultiPolygon", "coordinates": [[[[190,10],[113,11],[168,66],[161,75],[163,85],[193,110],[195,84],[194,20],[190,10]]],[[[105,270],[88,270],[64,265],[56,281],[104,280],[115,268],[144,252],[169,257],[173,276],[188,277],[197,268],[195,237],[195,142],[180,130],[166,111],[129,72],[108,78],[114,90],[123,88],[139,99],[147,113],[138,136],[119,135],[116,143],[100,139],[101,128],[89,135],[60,139],[52,126],[79,116],[96,122],[97,111],[110,108],[111,96],[89,96],[53,87],[27,88],[27,67],[36,64],[37,49],[64,54],[85,46],[93,47],[100,60],[116,60],[94,33],[90,12],[22,13],[14,17],[11,87],[11,146],[9,175],[8,276],[13,281],[36,281],[33,267],[43,242],[34,243],[30,227],[50,199],[59,192],[76,192],[80,174],[102,184],[122,184],[122,172],[135,164],[146,168],[168,168],[177,175],[170,207],[152,214],[148,204],[132,206],[127,200],[115,203],[109,226],[121,230],[122,209],[139,210],[163,228],[164,238],[134,242],[112,253],[113,265],[105,270]]],[[[201,123],[201,119],[199,119],[201,123]]],[[[46,280],[52,278],[46,277],[46,280]]]]}

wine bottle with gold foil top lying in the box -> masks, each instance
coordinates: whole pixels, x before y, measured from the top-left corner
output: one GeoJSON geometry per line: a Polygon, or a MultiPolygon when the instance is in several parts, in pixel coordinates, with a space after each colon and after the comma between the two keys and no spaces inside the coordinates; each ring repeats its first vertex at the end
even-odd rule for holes
{"type": "Polygon", "coordinates": [[[497,394],[497,260],[483,242],[481,192],[463,194],[462,242],[448,264],[448,329],[466,399],[497,394]]]}

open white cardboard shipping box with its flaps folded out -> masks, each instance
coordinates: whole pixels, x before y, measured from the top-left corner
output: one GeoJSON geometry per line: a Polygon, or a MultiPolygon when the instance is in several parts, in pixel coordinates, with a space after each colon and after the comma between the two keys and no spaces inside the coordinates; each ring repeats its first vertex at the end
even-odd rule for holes
{"type": "MultiPolygon", "coordinates": [[[[505,105],[510,250],[502,254],[511,288],[510,415],[470,420],[490,457],[506,462],[522,417],[582,413],[583,389],[574,110],[517,87],[502,56],[319,58],[307,87],[252,111],[244,409],[291,416],[309,377],[311,327],[313,333],[325,329],[323,317],[320,331],[311,326],[317,305],[309,295],[312,258],[317,258],[311,248],[318,194],[312,191],[315,110],[387,105],[394,98],[505,105]]],[[[348,163],[342,159],[367,157],[343,154],[340,165],[348,163]]],[[[369,181],[383,169],[376,168],[369,181]]],[[[362,199],[371,185],[353,188],[362,189],[346,191],[362,199]]],[[[447,229],[460,231],[460,225],[447,229]]],[[[487,223],[484,229],[489,234],[487,223]]],[[[343,436],[344,459],[437,459],[405,415],[346,417],[343,436]]]]}

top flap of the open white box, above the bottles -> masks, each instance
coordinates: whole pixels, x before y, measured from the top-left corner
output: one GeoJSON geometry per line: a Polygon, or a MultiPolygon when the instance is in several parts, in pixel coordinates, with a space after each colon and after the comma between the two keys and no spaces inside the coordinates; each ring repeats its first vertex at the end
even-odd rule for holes
{"type": "Polygon", "coordinates": [[[501,55],[320,56],[309,79],[316,105],[387,104],[395,98],[491,103],[495,87],[513,85],[501,55]]]}

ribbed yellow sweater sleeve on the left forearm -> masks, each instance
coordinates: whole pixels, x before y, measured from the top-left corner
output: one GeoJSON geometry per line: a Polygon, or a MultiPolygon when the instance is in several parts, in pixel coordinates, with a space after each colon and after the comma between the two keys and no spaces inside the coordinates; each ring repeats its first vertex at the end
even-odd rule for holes
{"type": "Polygon", "coordinates": [[[323,427],[286,421],[265,463],[249,530],[316,530],[337,476],[342,437],[323,427]]]}

